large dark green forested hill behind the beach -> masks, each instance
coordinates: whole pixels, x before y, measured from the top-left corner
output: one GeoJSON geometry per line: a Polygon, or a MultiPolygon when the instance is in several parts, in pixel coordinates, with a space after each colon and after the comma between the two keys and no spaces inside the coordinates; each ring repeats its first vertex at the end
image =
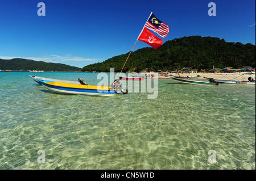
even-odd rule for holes
{"type": "MultiPolygon", "coordinates": [[[[101,63],[84,66],[82,71],[121,71],[128,56],[121,54],[101,63]]],[[[226,42],[217,37],[189,36],[166,41],[158,49],[151,47],[132,52],[123,72],[142,70],[175,70],[251,66],[255,68],[255,45],[226,42]]]]}

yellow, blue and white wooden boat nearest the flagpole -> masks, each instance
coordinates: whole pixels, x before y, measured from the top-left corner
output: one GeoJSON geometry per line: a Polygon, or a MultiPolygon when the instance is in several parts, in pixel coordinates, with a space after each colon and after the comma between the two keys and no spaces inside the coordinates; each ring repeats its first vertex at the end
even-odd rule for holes
{"type": "Polygon", "coordinates": [[[64,94],[85,94],[99,96],[113,96],[115,94],[115,89],[107,86],[77,85],[73,83],[51,81],[40,81],[40,84],[46,87],[48,90],[64,94]]]}

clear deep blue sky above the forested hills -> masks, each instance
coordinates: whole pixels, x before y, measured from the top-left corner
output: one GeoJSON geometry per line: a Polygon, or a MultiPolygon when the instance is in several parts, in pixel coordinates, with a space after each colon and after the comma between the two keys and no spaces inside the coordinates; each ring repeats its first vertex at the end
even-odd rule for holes
{"type": "MultiPolygon", "coordinates": [[[[163,43],[200,35],[255,45],[254,0],[1,0],[0,58],[80,68],[102,62],[131,50],[151,12],[170,28],[163,43]],[[39,2],[46,16],[38,16],[39,2]],[[216,16],[208,15],[209,2],[216,16]]],[[[138,41],[134,50],[143,47],[138,41]]]]}

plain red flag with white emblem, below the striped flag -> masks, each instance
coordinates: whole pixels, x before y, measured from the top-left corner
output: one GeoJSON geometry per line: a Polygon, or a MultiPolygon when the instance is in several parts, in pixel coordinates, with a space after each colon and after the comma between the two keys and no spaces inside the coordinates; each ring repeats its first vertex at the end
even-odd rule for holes
{"type": "Polygon", "coordinates": [[[144,43],[147,43],[154,49],[157,49],[163,43],[162,39],[159,39],[159,37],[152,34],[149,30],[147,30],[146,27],[143,28],[143,31],[141,32],[141,35],[139,36],[138,40],[141,40],[144,43]]]}

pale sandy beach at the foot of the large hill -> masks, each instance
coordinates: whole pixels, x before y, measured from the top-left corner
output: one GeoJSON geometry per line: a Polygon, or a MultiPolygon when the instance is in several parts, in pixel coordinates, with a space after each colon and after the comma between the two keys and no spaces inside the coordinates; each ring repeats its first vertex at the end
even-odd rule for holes
{"type": "MultiPolygon", "coordinates": [[[[176,73],[171,73],[171,75],[179,76],[176,73]]],[[[243,74],[243,73],[241,74],[240,73],[193,73],[193,74],[183,73],[183,74],[180,74],[180,77],[187,77],[187,76],[194,77],[197,75],[200,75],[199,77],[200,79],[205,79],[204,77],[207,77],[207,78],[214,78],[214,79],[221,79],[221,80],[248,81],[248,78],[252,77],[255,80],[255,74],[243,74]]]]}

